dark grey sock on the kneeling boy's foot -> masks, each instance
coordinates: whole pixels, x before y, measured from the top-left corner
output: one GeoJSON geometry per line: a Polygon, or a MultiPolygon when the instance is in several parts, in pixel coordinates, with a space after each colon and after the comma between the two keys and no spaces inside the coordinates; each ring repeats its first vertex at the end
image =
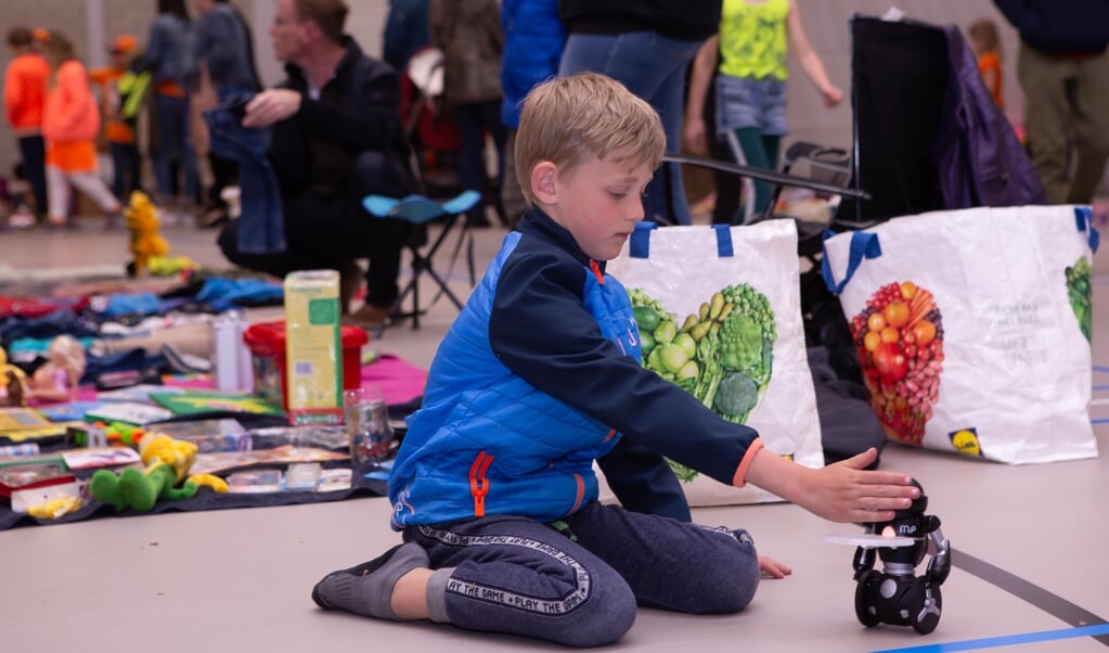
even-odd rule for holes
{"type": "Polygon", "coordinates": [[[312,590],[312,599],[328,610],[400,621],[390,605],[393,587],[400,576],[428,565],[427,552],[418,544],[399,544],[380,557],[327,574],[312,590]]]}

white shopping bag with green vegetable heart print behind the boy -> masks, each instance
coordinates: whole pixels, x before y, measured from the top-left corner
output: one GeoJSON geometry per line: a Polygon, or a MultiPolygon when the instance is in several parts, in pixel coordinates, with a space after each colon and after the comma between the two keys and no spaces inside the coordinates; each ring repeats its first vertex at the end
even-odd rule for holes
{"type": "MultiPolygon", "coordinates": [[[[823,466],[794,223],[655,227],[638,225],[607,267],[635,307],[643,364],[759,431],[769,450],[823,466]]],[[[690,505],[780,501],[672,465],[690,505]]],[[[602,488],[601,500],[610,498],[602,488]]]]}

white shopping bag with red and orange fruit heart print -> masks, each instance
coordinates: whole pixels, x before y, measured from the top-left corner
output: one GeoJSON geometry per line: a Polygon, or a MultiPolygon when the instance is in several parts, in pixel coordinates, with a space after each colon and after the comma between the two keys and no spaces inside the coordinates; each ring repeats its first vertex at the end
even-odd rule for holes
{"type": "Polygon", "coordinates": [[[937,211],[824,241],[871,406],[897,442],[1093,458],[1088,207],[937,211]]]}

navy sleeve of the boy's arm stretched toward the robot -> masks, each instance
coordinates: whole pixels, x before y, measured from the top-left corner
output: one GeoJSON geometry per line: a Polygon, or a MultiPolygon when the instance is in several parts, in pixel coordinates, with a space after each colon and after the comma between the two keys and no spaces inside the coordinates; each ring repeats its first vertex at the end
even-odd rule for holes
{"type": "Polygon", "coordinates": [[[529,241],[521,239],[497,283],[489,340],[498,359],[637,444],[732,484],[759,434],[623,354],[582,304],[584,265],[529,241]]]}

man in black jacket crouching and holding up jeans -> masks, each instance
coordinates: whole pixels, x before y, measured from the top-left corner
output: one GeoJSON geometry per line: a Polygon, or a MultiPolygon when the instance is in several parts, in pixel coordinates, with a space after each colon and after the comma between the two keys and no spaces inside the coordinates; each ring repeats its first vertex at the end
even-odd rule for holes
{"type": "MultiPolygon", "coordinates": [[[[246,107],[243,127],[272,127],[268,159],[281,189],[287,250],[238,249],[237,222],[220,237],[230,261],[284,277],[312,269],[344,274],[344,310],[357,283],[354,262],[368,258],[366,304],[354,320],[380,323],[397,298],[405,224],[367,213],[367,194],[416,189],[400,122],[400,82],[386,63],[344,34],[343,0],[281,0],[269,34],[288,79],[246,107]]],[[[360,272],[360,270],[358,271],[360,272]]]]}

